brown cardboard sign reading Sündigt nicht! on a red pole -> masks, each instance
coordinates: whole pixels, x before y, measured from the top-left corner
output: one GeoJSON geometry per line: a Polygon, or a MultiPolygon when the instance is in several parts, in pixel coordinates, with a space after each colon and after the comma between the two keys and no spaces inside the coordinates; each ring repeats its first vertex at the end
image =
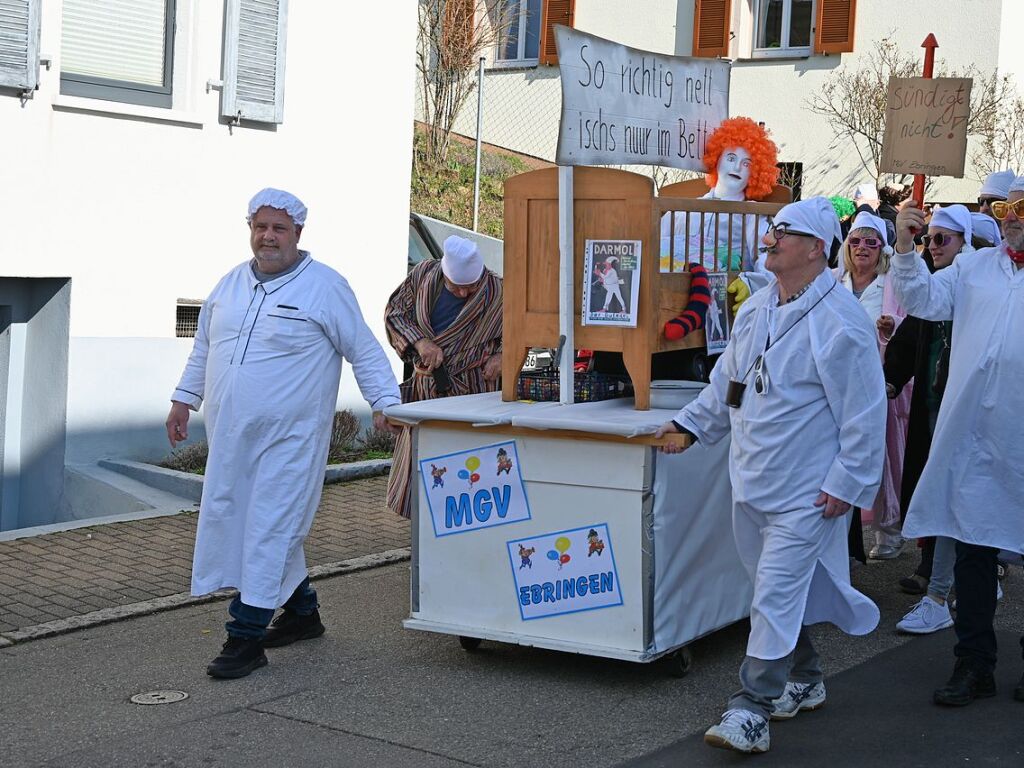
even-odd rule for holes
{"type": "Polygon", "coordinates": [[[882,173],[963,178],[970,78],[890,78],[882,173]]]}

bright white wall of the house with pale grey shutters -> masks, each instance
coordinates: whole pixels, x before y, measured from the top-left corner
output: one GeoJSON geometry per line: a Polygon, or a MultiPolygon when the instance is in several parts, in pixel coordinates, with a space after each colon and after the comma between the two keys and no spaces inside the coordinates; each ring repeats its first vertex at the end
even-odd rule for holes
{"type": "MultiPolygon", "coordinates": [[[[73,279],[70,460],[94,458],[98,429],[102,455],[164,453],[190,349],[174,339],[176,301],[204,298],[251,256],[244,217],[261,187],[306,203],[301,246],[348,278],[386,346],[384,304],[408,250],[413,3],[388,13],[388,55],[358,7],[290,3],[276,128],[218,120],[206,83],[220,79],[222,2],[178,2],[172,110],[61,96],[61,3],[42,7],[53,66],[24,106],[0,95],[0,274],[73,279]]],[[[350,376],[340,399],[361,403],[350,376]]]]}

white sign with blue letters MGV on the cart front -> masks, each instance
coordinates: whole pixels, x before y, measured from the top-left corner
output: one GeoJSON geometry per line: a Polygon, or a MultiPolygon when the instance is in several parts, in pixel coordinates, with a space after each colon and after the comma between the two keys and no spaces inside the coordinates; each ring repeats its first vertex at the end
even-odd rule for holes
{"type": "Polygon", "coordinates": [[[514,440],[424,459],[420,475],[434,536],[529,519],[514,440]]]}

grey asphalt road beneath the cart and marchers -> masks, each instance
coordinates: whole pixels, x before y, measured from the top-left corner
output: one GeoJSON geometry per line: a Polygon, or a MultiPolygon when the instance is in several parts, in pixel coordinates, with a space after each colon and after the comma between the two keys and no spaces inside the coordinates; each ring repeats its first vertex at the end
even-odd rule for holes
{"type": "MultiPolygon", "coordinates": [[[[908,643],[926,648],[922,639],[892,630],[913,601],[892,585],[909,572],[915,558],[908,551],[898,561],[855,571],[854,583],[882,608],[878,631],[849,638],[814,629],[829,678],[866,663],[854,671],[853,687],[866,687],[879,702],[878,718],[900,717],[907,732],[913,732],[919,716],[934,715],[931,690],[948,675],[947,648],[953,642],[951,631],[927,639],[931,660],[915,668],[920,674],[898,681],[900,710],[886,714],[885,707],[893,706],[888,692],[897,684],[893,665],[900,667],[886,651],[902,647],[898,653],[914,656],[920,654],[908,643]]],[[[657,663],[643,666],[499,643],[484,642],[467,653],[454,638],[401,628],[408,578],[409,565],[402,563],[317,582],[328,634],[268,650],[269,666],[238,681],[215,681],[204,672],[223,640],[223,602],[0,649],[0,764],[685,765],[677,759],[688,754],[679,752],[680,743],[699,738],[736,685],[744,623],[694,643],[694,667],[683,679],[669,676],[657,663]],[[129,701],[133,694],[157,689],[183,690],[188,698],[157,707],[129,701]]],[[[1022,582],[1019,570],[1008,578],[998,616],[1000,627],[1015,632],[1024,628],[1016,600],[1022,582]]],[[[1020,664],[1019,649],[1005,643],[1005,675],[1016,679],[1020,664]]],[[[842,680],[837,678],[838,692],[844,685],[850,689],[842,680]]],[[[1024,718],[1024,705],[1010,701],[1009,690],[1004,694],[1007,700],[1000,698],[999,706],[1018,707],[1008,711],[1024,718]]],[[[850,706],[870,714],[872,700],[861,697],[850,706]]],[[[820,721],[828,727],[808,731],[813,751],[791,748],[787,760],[786,739],[773,732],[775,746],[759,764],[831,768],[877,762],[879,741],[870,717],[866,725],[863,717],[857,721],[853,740],[865,751],[851,754],[843,706],[834,694],[830,719],[820,721]],[[833,750],[839,744],[842,754],[833,750]],[[809,754],[818,758],[805,762],[809,754]]],[[[955,739],[956,731],[946,730],[942,738],[955,739]]],[[[695,753],[699,764],[731,765],[738,757],[703,749],[695,753]]],[[[978,764],[987,763],[970,763],[978,764]]]]}

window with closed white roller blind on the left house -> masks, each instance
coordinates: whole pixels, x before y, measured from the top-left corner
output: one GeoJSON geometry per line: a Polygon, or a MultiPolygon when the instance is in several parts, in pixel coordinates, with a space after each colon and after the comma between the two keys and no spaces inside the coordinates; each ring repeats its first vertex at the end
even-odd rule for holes
{"type": "Polygon", "coordinates": [[[175,0],[63,0],[60,92],[171,106],[175,0]]]}

